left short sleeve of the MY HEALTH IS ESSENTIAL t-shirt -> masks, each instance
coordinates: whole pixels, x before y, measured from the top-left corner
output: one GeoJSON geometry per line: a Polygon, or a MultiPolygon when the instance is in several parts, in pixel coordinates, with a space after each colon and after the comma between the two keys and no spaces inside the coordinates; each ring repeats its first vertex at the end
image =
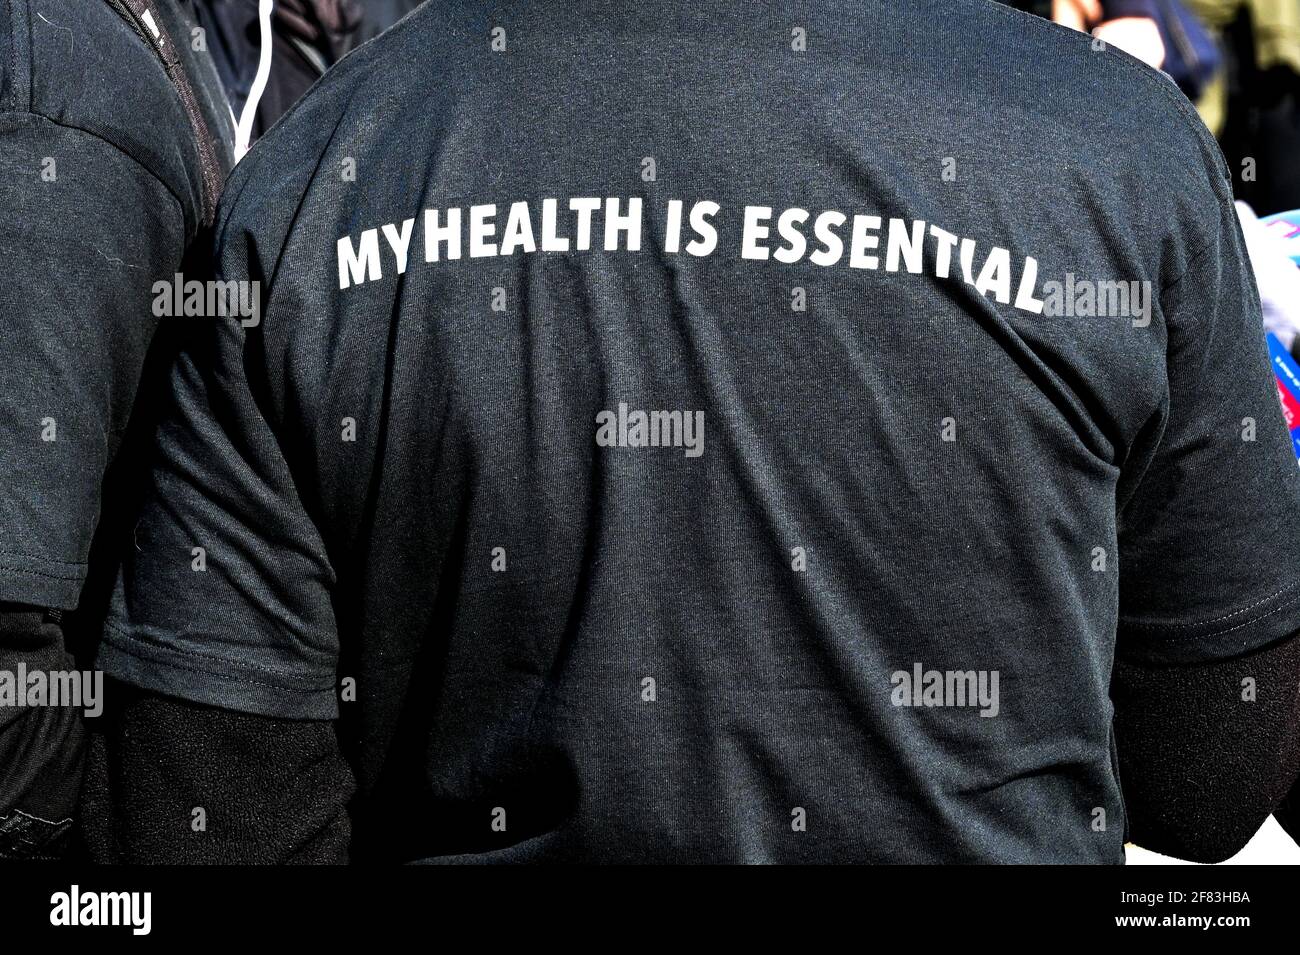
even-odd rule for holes
{"type": "Polygon", "coordinates": [[[334,572],[268,409],[265,365],[246,360],[261,329],[195,320],[183,338],[99,665],[194,703],[333,719],[334,572]]]}

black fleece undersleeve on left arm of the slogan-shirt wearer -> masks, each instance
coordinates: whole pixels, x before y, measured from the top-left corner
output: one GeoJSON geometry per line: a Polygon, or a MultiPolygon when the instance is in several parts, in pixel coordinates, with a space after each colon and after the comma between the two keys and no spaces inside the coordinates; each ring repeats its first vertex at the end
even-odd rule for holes
{"type": "Polygon", "coordinates": [[[95,861],[348,860],[355,786],[333,722],[237,713],[114,681],[105,696],[81,803],[95,861]]]}

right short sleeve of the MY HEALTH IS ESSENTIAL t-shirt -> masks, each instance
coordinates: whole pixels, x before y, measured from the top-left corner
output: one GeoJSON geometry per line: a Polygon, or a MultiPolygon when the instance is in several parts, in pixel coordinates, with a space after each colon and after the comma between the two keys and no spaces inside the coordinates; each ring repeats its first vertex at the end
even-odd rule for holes
{"type": "Polygon", "coordinates": [[[1161,309],[1167,413],[1121,511],[1117,650],[1206,663],[1300,631],[1300,468],[1230,200],[1161,309]]]}

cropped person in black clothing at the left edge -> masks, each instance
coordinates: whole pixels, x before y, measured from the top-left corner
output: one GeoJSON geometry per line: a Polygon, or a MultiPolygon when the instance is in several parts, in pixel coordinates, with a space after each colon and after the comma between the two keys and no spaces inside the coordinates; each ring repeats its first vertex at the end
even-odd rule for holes
{"type": "Polygon", "coordinates": [[[94,659],[139,483],[131,435],[151,434],[129,422],[153,283],[202,268],[231,164],[194,26],[190,0],[0,6],[0,859],[70,842],[82,715],[103,699],[23,706],[40,698],[18,676],[94,659]]]}

